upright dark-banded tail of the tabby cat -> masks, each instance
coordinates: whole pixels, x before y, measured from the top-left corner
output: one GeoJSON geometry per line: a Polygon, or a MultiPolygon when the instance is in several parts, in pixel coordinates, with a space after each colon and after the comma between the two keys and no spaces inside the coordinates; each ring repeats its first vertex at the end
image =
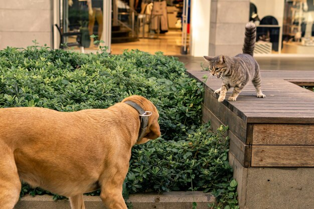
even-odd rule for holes
{"type": "Polygon", "coordinates": [[[254,23],[247,23],[245,26],[245,37],[242,48],[243,54],[253,56],[255,40],[256,40],[256,26],[254,25],[254,23]]]}

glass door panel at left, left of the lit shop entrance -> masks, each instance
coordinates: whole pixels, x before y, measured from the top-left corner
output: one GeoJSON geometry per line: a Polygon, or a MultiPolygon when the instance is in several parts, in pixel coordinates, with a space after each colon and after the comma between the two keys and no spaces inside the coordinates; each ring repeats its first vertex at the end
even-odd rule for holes
{"type": "Polygon", "coordinates": [[[58,27],[60,48],[96,51],[102,40],[110,49],[111,0],[60,0],[58,27]]]}

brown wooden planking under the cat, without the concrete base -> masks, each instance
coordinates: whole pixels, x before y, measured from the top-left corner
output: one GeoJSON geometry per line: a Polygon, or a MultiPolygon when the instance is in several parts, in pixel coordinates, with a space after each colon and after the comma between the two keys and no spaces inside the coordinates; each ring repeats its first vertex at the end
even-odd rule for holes
{"type": "MultiPolygon", "coordinates": [[[[188,71],[204,81],[207,71],[188,71]]],[[[262,91],[257,98],[249,83],[237,101],[218,102],[214,91],[221,80],[206,81],[203,122],[216,129],[228,125],[230,152],[245,167],[314,166],[314,71],[261,71],[262,91]],[[297,85],[296,85],[297,84],[297,85]]],[[[231,95],[228,91],[226,98],[231,95]]]]}

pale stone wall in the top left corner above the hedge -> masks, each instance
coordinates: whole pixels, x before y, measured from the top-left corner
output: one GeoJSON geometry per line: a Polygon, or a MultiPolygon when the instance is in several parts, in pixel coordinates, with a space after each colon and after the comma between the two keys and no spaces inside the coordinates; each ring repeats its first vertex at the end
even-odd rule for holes
{"type": "Polygon", "coordinates": [[[52,47],[53,0],[0,0],[0,50],[33,40],[52,47]]]}

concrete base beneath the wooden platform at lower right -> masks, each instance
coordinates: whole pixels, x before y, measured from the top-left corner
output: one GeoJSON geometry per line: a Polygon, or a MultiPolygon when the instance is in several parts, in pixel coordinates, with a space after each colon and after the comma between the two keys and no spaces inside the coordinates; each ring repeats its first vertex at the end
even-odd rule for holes
{"type": "Polygon", "coordinates": [[[229,161],[242,209],[314,208],[314,167],[243,167],[229,161]]]}

